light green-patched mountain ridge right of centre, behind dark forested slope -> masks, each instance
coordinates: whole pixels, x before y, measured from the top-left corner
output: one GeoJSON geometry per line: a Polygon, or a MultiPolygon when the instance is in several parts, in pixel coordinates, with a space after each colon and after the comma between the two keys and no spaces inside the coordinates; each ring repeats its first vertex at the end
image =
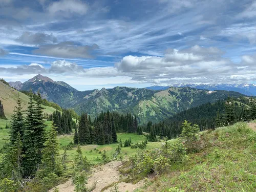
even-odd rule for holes
{"type": "Polygon", "coordinates": [[[150,99],[143,99],[133,109],[141,122],[159,121],[178,112],[194,108],[201,104],[214,103],[228,97],[238,98],[242,94],[227,91],[206,91],[194,88],[169,88],[155,93],[150,99]]]}

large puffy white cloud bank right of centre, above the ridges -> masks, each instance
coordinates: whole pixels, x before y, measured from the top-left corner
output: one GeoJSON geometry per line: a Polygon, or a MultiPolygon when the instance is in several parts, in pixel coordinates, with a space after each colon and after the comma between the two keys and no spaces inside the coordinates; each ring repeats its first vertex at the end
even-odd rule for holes
{"type": "Polygon", "coordinates": [[[115,67],[133,80],[144,82],[218,83],[230,81],[231,75],[240,74],[245,69],[238,69],[243,63],[235,64],[222,57],[223,54],[224,52],[214,47],[194,46],[184,50],[167,50],[164,57],[125,56],[115,67]]]}

